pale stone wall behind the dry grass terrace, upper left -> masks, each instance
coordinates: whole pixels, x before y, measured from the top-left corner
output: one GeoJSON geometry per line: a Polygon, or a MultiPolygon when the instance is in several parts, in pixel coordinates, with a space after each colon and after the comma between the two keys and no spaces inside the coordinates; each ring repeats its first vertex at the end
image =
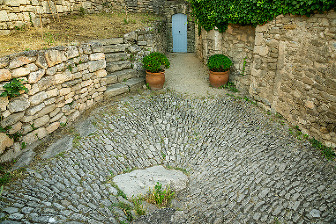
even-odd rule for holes
{"type": "Polygon", "coordinates": [[[106,0],[0,0],[0,35],[8,35],[15,27],[40,25],[39,14],[42,15],[42,23],[51,22],[52,13],[55,20],[58,15],[78,14],[81,8],[85,13],[97,13],[103,9],[109,10],[112,4],[106,0]],[[106,7],[105,7],[106,6],[106,7]]]}

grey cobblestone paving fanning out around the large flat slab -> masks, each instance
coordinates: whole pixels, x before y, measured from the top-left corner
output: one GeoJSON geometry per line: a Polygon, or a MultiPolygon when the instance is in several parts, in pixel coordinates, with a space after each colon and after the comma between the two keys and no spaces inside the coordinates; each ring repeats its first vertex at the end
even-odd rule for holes
{"type": "Polygon", "coordinates": [[[124,98],[93,111],[78,146],[6,186],[1,223],[128,223],[110,210],[124,200],[111,174],[156,164],[189,172],[181,223],[336,223],[335,162],[276,119],[228,96],[124,98]]]}

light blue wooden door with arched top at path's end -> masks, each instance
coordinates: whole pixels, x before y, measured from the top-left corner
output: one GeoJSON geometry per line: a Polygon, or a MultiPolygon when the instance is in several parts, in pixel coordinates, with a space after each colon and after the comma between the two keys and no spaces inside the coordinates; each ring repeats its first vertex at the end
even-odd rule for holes
{"type": "Polygon", "coordinates": [[[178,13],[171,17],[173,23],[173,52],[188,51],[188,16],[186,14],[178,13]]]}

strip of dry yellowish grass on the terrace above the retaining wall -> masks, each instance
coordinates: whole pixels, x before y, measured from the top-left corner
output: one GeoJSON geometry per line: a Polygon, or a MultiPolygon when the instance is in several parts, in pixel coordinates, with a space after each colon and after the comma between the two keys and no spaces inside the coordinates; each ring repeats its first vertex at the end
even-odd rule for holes
{"type": "Polygon", "coordinates": [[[43,27],[43,39],[39,27],[23,27],[8,36],[0,36],[0,57],[25,50],[67,46],[78,42],[122,37],[123,34],[142,29],[159,20],[148,13],[100,13],[69,15],[61,18],[61,24],[51,23],[43,27]]]}

